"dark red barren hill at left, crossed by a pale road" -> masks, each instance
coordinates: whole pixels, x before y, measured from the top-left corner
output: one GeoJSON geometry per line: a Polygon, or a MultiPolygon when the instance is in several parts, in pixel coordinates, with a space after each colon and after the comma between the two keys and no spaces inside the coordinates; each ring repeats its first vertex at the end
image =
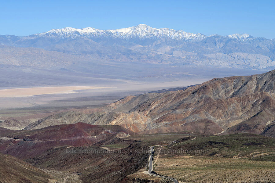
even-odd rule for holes
{"type": "Polygon", "coordinates": [[[118,125],[90,125],[76,123],[56,125],[37,130],[13,131],[0,127],[0,152],[26,159],[40,155],[48,149],[71,145],[82,147],[118,133],[136,135],[118,125]]]}

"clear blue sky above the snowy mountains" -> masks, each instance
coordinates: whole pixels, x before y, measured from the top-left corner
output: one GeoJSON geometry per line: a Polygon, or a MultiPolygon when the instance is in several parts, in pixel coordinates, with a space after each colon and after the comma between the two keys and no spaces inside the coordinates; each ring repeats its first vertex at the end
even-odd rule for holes
{"type": "Polygon", "coordinates": [[[118,29],[145,23],[205,35],[275,38],[275,1],[3,1],[0,34],[26,36],[63,27],[118,29]]]}

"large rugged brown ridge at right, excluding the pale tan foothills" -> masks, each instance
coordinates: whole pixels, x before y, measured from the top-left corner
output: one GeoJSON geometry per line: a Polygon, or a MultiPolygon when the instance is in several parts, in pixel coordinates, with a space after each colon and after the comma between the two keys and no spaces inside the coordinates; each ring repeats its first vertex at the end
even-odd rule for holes
{"type": "Polygon", "coordinates": [[[274,72],[213,79],[147,100],[129,112],[150,116],[153,123],[166,126],[209,119],[222,127],[231,127],[229,132],[260,133],[274,120],[274,72]],[[232,127],[240,122],[248,127],[232,127]]]}

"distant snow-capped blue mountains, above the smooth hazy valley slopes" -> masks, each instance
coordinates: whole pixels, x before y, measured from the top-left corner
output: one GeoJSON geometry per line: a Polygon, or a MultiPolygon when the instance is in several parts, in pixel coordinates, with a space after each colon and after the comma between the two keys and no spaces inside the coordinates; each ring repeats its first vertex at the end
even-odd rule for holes
{"type": "MultiPolygon", "coordinates": [[[[7,46],[4,50],[13,49],[14,46],[45,49],[31,53],[38,56],[32,66],[45,57],[47,59],[44,60],[49,60],[51,63],[55,60],[63,60],[64,63],[67,63],[67,60],[71,60],[70,62],[77,60],[76,62],[81,63],[83,59],[85,64],[111,61],[123,64],[136,62],[243,69],[275,68],[275,39],[253,38],[249,34],[206,36],[170,28],[152,28],[146,24],[114,30],[65,27],[30,36],[0,35],[0,45],[3,49],[7,46]],[[48,51],[62,52],[65,55],[58,56],[58,53],[48,51]]],[[[25,58],[28,49],[18,50],[20,54],[22,53],[21,58],[25,58]]],[[[14,54],[10,52],[11,56],[6,57],[5,52],[2,51],[4,56],[2,60],[4,64],[10,63],[9,58],[13,58],[14,54]]],[[[28,60],[32,58],[31,55],[28,60]]],[[[20,64],[25,63],[29,62],[20,61],[20,64]]]]}

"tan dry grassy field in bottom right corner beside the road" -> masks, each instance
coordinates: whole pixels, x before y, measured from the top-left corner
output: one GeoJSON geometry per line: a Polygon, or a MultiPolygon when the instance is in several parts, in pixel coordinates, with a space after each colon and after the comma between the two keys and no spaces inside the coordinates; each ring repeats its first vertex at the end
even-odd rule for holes
{"type": "Polygon", "coordinates": [[[210,156],[161,156],[155,171],[183,182],[272,182],[275,163],[210,156]]]}

